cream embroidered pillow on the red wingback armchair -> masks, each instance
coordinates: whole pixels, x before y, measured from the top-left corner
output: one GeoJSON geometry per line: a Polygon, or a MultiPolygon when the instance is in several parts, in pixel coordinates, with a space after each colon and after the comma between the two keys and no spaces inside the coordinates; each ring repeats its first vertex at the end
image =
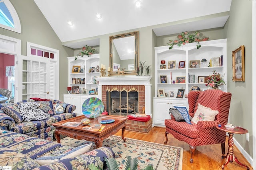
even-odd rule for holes
{"type": "Polygon", "coordinates": [[[205,107],[201,104],[198,104],[196,113],[194,114],[194,117],[191,119],[191,121],[196,124],[198,121],[214,121],[215,116],[218,113],[218,110],[212,110],[209,107],[205,107]]]}

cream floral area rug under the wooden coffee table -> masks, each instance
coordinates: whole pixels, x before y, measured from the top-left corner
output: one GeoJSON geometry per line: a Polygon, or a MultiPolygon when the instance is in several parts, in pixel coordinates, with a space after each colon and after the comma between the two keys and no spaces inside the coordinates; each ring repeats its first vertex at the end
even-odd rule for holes
{"type": "MultiPolygon", "coordinates": [[[[77,147],[92,143],[86,140],[77,140],[70,137],[61,139],[61,144],[71,147],[77,147]]],[[[147,165],[153,165],[155,170],[182,170],[183,149],[158,143],[150,143],[135,139],[126,138],[126,142],[118,136],[110,136],[104,140],[103,146],[110,147],[116,156],[119,169],[124,169],[126,156],[137,157],[139,168],[147,165]]],[[[93,144],[90,150],[96,149],[93,144]]]]}

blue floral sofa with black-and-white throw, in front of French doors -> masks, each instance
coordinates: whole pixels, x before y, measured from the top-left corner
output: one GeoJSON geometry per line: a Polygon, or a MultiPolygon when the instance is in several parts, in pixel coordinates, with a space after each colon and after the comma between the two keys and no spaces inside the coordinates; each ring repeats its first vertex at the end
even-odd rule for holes
{"type": "Polygon", "coordinates": [[[76,106],[60,100],[29,99],[0,104],[0,129],[53,141],[55,127],[52,123],[76,117],[75,109],[76,106]]]}

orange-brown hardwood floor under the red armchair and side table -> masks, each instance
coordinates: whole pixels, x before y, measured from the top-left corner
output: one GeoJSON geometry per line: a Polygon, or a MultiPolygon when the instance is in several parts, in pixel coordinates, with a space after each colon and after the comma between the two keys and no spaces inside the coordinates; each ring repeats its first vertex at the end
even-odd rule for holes
{"type": "MultiPolygon", "coordinates": [[[[148,134],[134,133],[125,131],[124,137],[138,139],[142,141],[154,142],[164,144],[165,141],[165,128],[154,127],[148,134]]],[[[122,131],[118,131],[115,135],[121,136],[122,131]]],[[[221,145],[206,145],[198,146],[193,156],[194,162],[191,164],[190,160],[190,149],[187,143],[175,139],[171,134],[168,134],[168,143],[175,147],[183,148],[183,159],[182,159],[182,170],[222,170],[221,166],[226,162],[226,159],[222,159],[221,145]]],[[[226,138],[226,153],[228,152],[228,137],[226,138]]],[[[244,158],[244,156],[234,146],[234,155],[238,158],[239,162],[249,166],[252,170],[252,166],[244,158]]],[[[160,170],[160,169],[159,169],[160,170]]],[[[246,167],[240,166],[235,161],[229,162],[224,170],[246,170],[246,167]]]]}

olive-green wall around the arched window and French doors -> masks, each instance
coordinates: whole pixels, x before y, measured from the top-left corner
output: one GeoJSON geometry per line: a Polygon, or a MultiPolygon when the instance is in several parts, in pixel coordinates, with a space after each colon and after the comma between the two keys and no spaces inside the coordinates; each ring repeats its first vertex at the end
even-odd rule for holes
{"type": "Polygon", "coordinates": [[[60,39],[53,31],[42,12],[33,0],[10,0],[14,6],[21,23],[21,33],[0,28],[0,34],[21,40],[21,55],[26,54],[27,42],[43,45],[60,51],[60,100],[66,93],[68,84],[68,59],[74,55],[74,50],[62,45],[60,39]]]}

